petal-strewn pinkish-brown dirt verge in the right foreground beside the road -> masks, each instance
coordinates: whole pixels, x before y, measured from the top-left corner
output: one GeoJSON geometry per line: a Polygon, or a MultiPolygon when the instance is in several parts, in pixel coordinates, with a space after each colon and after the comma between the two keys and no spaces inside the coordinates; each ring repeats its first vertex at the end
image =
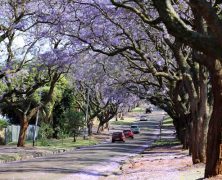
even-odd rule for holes
{"type": "Polygon", "coordinates": [[[191,157],[187,151],[181,150],[181,146],[156,147],[129,159],[120,170],[121,174],[105,179],[201,179],[204,164],[192,165],[191,157]]]}

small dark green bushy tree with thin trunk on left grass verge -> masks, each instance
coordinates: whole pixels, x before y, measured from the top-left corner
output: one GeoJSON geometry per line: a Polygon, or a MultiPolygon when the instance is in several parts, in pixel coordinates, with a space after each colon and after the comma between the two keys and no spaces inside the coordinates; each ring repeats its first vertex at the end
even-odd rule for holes
{"type": "Polygon", "coordinates": [[[72,134],[73,142],[76,142],[76,137],[80,135],[82,128],[85,125],[84,114],[69,109],[65,113],[65,128],[72,134]]]}

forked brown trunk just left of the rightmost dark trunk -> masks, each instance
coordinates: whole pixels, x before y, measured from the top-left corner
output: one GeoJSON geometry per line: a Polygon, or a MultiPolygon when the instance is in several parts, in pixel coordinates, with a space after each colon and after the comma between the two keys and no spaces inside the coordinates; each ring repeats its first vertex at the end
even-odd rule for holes
{"type": "Polygon", "coordinates": [[[205,162],[205,138],[204,137],[204,121],[207,106],[207,83],[204,79],[204,71],[199,68],[199,83],[196,87],[191,76],[184,74],[186,90],[189,94],[191,119],[189,122],[190,132],[190,149],[189,154],[192,155],[193,164],[205,162]]]}

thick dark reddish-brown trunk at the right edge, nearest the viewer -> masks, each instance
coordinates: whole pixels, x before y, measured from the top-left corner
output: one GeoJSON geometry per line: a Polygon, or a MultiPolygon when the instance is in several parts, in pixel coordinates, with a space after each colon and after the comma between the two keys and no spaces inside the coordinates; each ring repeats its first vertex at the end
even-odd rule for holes
{"type": "Polygon", "coordinates": [[[221,159],[219,159],[222,122],[222,64],[219,61],[216,61],[215,69],[211,71],[211,78],[214,102],[207,135],[205,178],[222,173],[221,159]]]}

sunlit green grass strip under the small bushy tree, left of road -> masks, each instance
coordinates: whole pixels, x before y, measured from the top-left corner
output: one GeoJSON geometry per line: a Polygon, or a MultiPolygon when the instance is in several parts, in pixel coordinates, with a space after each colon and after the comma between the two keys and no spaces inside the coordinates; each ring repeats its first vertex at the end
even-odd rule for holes
{"type": "MultiPolygon", "coordinates": [[[[66,139],[48,139],[46,143],[41,143],[41,140],[37,140],[37,146],[39,148],[47,148],[49,150],[54,149],[71,149],[71,148],[78,148],[82,146],[90,146],[97,144],[98,141],[94,138],[88,138],[83,140],[82,137],[77,138],[76,142],[73,142],[73,138],[66,138],[66,139]]],[[[9,143],[9,145],[16,145],[16,142],[9,143]]],[[[32,141],[26,141],[26,146],[32,146],[32,141]]]]}

